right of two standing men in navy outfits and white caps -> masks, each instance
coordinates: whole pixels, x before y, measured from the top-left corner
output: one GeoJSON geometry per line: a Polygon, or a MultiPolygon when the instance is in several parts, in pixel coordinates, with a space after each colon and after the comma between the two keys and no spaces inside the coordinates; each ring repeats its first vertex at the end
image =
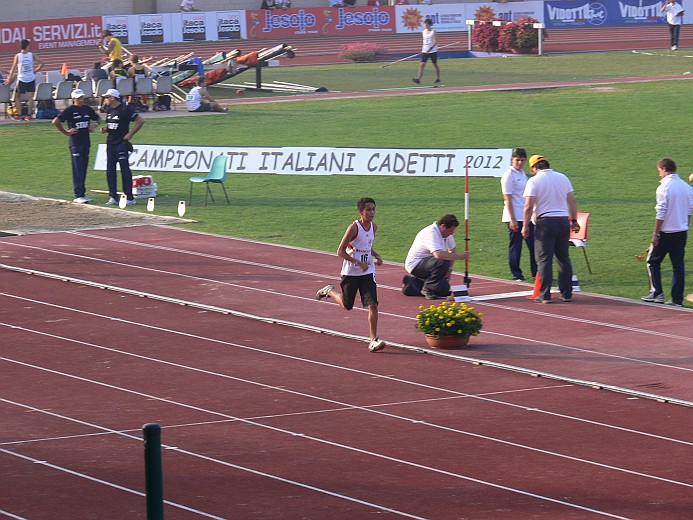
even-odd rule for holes
{"type": "Polygon", "coordinates": [[[108,89],[104,97],[106,98],[106,126],[101,127],[101,132],[108,133],[106,139],[106,181],[110,195],[106,205],[118,204],[117,166],[120,166],[123,193],[127,197],[127,203],[134,204],[132,171],[130,170],[130,152],[132,151],[130,140],[142,128],[144,119],[132,107],[120,101],[120,92],[116,89],[108,89]],[[135,123],[132,130],[130,130],[130,122],[135,123]]]}

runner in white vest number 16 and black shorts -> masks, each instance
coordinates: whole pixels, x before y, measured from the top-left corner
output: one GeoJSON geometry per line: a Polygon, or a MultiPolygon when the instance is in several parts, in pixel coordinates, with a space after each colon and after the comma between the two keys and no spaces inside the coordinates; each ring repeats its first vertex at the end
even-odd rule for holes
{"type": "Polygon", "coordinates": [[[361,293],[361,303],[368,307],[368,325],[371,342],[368,350],[377,352],[385,348],[385,342],[378,338],[378,291],[375,284],[375,266],[382,265],[383,259],[373,249],[375,232],[378,229],[375,218],[375,201],[364,197],[356,203],[361,218],[349,225],[337,254],[342,258],[342,294],[328,284],[320,289],[315,298],[332,298],[346,310],[354,307],[356,293],[361,293]]]}

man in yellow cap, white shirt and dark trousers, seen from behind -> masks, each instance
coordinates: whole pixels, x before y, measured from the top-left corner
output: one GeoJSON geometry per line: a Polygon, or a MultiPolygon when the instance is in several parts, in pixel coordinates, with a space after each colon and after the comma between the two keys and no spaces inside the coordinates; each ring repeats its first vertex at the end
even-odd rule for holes
{"type": "Polygon", "coordinates": [[[525,187],[525,211],[522,236],[529,237],[534,222],[534,255],[541,280],[537,303],[551,303],[553,257],[558,264],[558,290],[561,301],[573,299],[573,266],[570,263],[570,230],[579,231],[577,202],[570,179],[550,168],[542,155],[529,158],[533,177],[525,187]]]}

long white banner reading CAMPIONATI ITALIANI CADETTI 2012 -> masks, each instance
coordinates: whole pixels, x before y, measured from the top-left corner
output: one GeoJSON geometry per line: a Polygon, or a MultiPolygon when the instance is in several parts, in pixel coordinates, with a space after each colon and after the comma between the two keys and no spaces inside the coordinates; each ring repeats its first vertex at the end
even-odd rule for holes
{"type": "MultiPolygon", "coordinates": [[[[219,146],[134,145],[135,171],[208,172],[217,155],[228,157],[229,173],[298,175],[419,175],[501,177],[510,164],[505,148],[242,148],[219,146]]],[[[106,145],[100,144],[95,170],[106,169],[106,145]]]]}

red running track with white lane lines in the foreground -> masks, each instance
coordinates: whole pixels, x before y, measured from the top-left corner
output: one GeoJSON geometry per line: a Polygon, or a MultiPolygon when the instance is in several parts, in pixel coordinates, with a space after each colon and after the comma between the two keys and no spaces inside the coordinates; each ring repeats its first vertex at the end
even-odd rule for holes
{"type": "MultiPolygon", "coordinates": [[[[371,354],[350,337],[86,283],[364,334],[363,312],[313,299],[334,255],[162,227],[1,242],[5,266],[84,281],[0,271],[5,514],[144,518],[146,422],[163,427],[167,518],[693,511],[688,406],[406,349],[371,354]]],[[[411,318],[421,300],[399,293],[400,277],[398,264],[379,271],[382,336],[423,346],[411,318]]],[[[473,279],[480,299],[528,288],[473,279]]],[[[588,294],[475,306],[485,329],[467,357],[632,390],[657,379],[662,395],[691,396],[685,310],[588,294]]]]}

